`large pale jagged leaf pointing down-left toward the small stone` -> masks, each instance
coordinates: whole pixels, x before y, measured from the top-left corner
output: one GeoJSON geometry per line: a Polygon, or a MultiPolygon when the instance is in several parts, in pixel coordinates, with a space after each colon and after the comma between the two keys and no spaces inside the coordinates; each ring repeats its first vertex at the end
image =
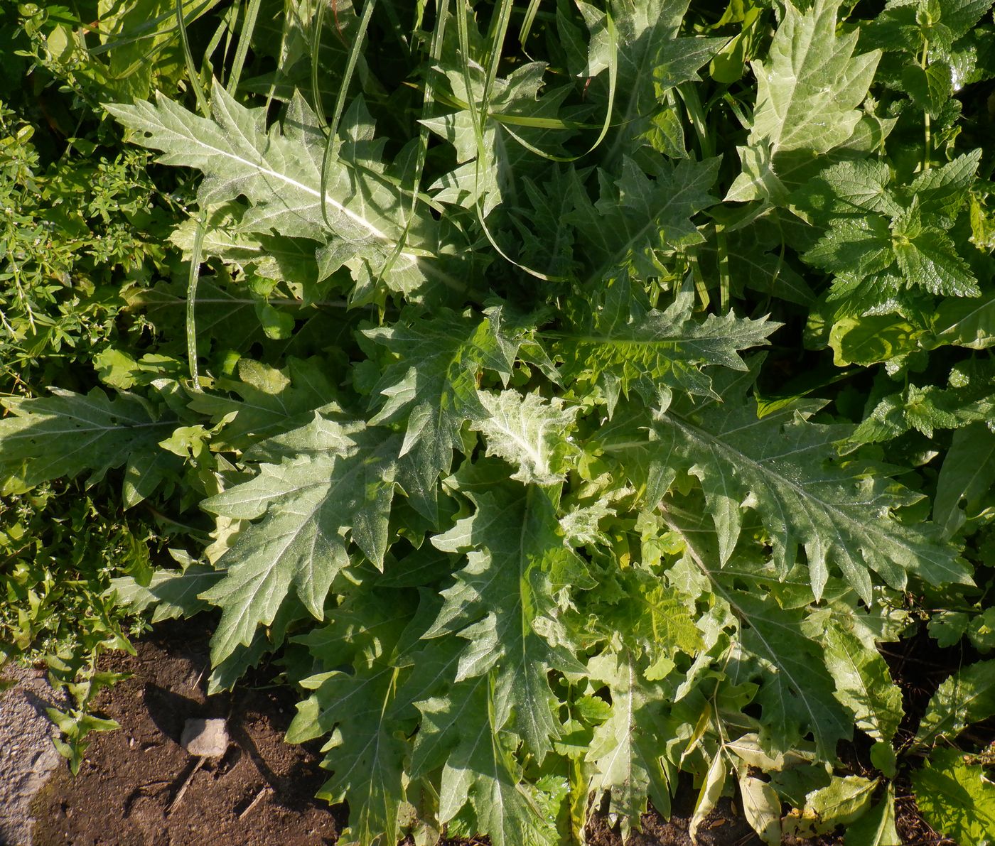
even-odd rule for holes
{"type": "Polygon", "coordinates": [[[398,438],[320,416],[292,434],[300,435],[298,448],[309,449],[261,462],[254,478],[202,503],[223,518],[263,518],[239,533],[219,562],[225,578],[202,596],[222,608],[211,647],[215,662],[249,645],[292,589],[322,619],[331,581],[349,564],[346,534],[383,568],[398,438]]]}

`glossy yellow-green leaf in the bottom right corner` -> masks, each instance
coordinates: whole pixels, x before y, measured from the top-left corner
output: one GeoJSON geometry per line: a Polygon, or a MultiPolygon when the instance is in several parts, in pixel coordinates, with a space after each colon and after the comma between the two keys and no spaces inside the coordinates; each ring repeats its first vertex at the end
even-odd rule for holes
{"type": "Polygon", "coordinates": [[[985,768],[955,749],[936,750],[911,773],[915,803],[937,831],[958,843],[986,846],[995,840],[995,785],[985,768]]]}

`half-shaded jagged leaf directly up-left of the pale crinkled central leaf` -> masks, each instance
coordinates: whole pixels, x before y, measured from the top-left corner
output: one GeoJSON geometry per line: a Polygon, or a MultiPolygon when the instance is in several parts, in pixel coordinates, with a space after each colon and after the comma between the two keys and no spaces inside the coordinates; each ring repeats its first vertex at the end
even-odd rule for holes
{"type": "MultiPolygon", "coordinates": [[[[414,459],[413,487],[431,491],[416,505],[434,512],[436,480],[461,446],[460,427],[489,417],[478,380],[485,368],[507,380],[519,342],[502,330],[499,308],[485,316],[437,310],[364,334],[396,358],[374,389],[385,399],[370,423],[405,422],[400,455],[414,459]]],[[[404,479],[401,484],[413,493],[404,479]]]]}

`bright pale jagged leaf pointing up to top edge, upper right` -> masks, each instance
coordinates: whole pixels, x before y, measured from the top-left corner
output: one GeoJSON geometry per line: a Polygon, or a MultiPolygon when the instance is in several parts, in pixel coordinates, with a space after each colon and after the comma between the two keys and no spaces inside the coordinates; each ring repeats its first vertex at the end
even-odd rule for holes
{"type": "Polygon", "coordinates": [[[881,53],[854,56],[860,33],[837,36],[840,5],[841,0],[816,0],[801,12],[787,3],[770,59],[751,63],[757,80],[753,125],[748,146],[738,148],[744,173],[733,182],[727,200],[768,197],[784,202],[777,174],[782,164],[791,166],[791,153],[827,153],[854,134],[862,118],[858,106],[881,53]]]}

